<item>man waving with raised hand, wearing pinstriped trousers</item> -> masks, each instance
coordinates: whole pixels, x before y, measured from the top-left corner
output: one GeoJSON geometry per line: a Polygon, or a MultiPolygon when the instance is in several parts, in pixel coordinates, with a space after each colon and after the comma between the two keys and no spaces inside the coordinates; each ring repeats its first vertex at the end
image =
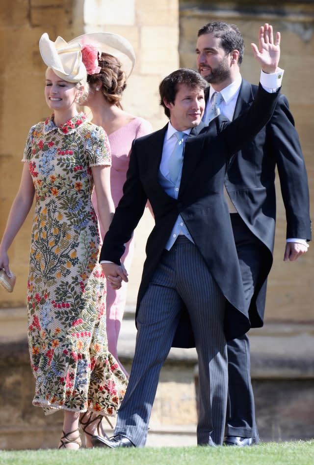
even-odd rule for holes
{"type": "MultiPolygon", "coordinates": [[[[260,29],[260,52],[253,47],[262,70],[271,73],[262,73],[261,84],[267,88],[280,86],[275,72],[279,41],[280,34],[274,43],[271,26],[265,25],[260,29]]],[[[228,158],[261,130],[279,94],[260,86],[247,114],[233,122],[216,118],[202,132],[206,86],[193,70],[179,69],[167,76],[159,93],[170,121],[132,144],[124,195],[100,257],[109,285],[119,287],[122,279],[128,279],[120,258],[148,200],[155,226],[147,241],[138,292],[129,385],[114,436],[95,436],[94,445],[145,445],[159,372],[174,345],[197,349],[198,444],[223,441],[228,390],[226,299],[232,304],[227,333],[242,334],[249,324],[223,181],[228,158]]]]}

